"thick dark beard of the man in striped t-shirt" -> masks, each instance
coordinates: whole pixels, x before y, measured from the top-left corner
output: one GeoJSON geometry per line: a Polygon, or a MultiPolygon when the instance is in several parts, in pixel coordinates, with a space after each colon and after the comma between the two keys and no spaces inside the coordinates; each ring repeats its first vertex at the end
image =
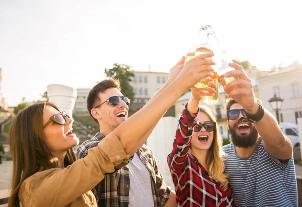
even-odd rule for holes
{"type": "Polygon", "coordinates": [[[236,147],[248,148],[253,146],[257,142],[259,135],[255,126],[253,126],[251,123],[249,122],[242,122],[242,123],[238,121],[236,124],[234,124],[233,127],[230,127],[231,140],[236,147]],[[246,123],[250,126],[251,129],[250,134],[247,133],[238,134],[236,132],[237,126],[242,123],[246,123]]]}

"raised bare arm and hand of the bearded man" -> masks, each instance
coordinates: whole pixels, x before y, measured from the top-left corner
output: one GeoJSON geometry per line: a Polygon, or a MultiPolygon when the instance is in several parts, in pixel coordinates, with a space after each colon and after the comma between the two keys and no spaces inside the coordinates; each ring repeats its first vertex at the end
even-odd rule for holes
{"type": "MultiPolygon", "coordinates": [[[[227,84],[224,90],[235,86],[239,86],[240,88],[231,91],[226,96],[234,98],[248,114],[255,115],[260,109],[260,106],[255,100],[251,79],[244,72],[242,66],[236,63],[230,63],[230,66],[236,70],[230,71],[224,76],[238,76],[239,78],[227,84]]],[[[290,140],[282,133],[273,115],[267,110],[263,110],[263,118],[255,123],[255,127],[263,140],[263,146],[273,157],[279,160],[288,160],[292,155],[290,140]]]]}

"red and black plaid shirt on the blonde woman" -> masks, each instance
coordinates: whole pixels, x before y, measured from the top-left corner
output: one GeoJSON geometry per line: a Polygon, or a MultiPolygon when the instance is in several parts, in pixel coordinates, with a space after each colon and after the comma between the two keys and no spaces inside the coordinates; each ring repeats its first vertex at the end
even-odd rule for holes
{"type": "Polygon", "coordinates": [[[193,128],[198,124],[198,113],[199,109],[195,114],[184,109],[178,121],[172,153],[168,155],[176,201],[179,206],[235,206],[231,186],[223,190],[223,185],[188,154],[193,128]]]}

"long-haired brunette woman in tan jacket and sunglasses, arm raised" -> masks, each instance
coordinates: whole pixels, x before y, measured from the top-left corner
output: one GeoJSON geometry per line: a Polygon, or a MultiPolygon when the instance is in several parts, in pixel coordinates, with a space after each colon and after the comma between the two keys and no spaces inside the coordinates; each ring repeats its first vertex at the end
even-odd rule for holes
{"type": "MultiPolygon", "coordinates": [[[[19,206],[20,202],[22,206],[97,206],[90,190],[105,173],[114,172],[121,162],[127,163],[146,141],[145,135],[185,91],[211,75],[213,62],[205,59],[211,56],[200,55],[186,65],[182,58],[171,69],[170,81],[143,109],[77,161],[71,148],[79,144],[79,139],[72,133],[72,119],[66,113],[49,103],[34,104],[19,112],[9,132],[13,158],[9,206],[19,206]]],[[[108,100],[106,104],[110,104],[108,100]]]]}

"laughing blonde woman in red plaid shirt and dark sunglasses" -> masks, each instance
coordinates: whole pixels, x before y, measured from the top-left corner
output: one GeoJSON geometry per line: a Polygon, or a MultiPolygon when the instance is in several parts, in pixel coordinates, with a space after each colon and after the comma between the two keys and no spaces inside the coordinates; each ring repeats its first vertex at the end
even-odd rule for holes
{"type": "Polygon", "coordinates": [[[179,206],[235,206],[224,174],[216,120],[207,108],[198,108],[202,95],[214,92],[205,90],[192,88],[168,155],[176,201],[179,206]]]}

